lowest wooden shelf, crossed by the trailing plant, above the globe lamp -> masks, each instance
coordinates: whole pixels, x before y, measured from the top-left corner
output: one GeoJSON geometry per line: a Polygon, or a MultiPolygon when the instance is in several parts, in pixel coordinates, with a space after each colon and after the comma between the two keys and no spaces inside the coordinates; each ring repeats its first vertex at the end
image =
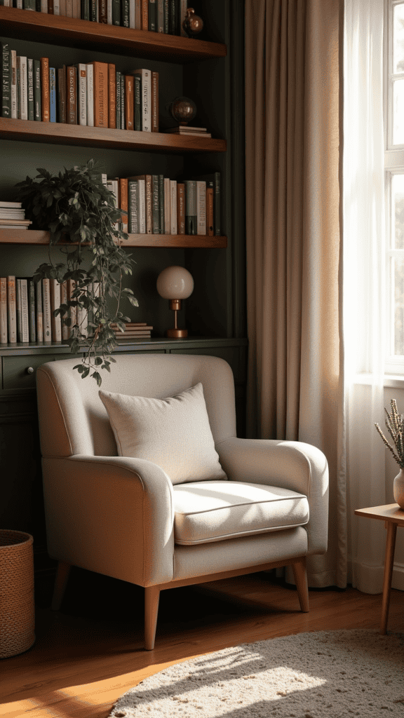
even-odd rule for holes
{"type": "MultiPolygon", "coordinates": [[[[0,229],[0,244],[47,245],[49,232],[41,230],[0,229]]],[[[124,247],[226,248],[227,237],[188,234],[129,234],[124,247]]]]}

